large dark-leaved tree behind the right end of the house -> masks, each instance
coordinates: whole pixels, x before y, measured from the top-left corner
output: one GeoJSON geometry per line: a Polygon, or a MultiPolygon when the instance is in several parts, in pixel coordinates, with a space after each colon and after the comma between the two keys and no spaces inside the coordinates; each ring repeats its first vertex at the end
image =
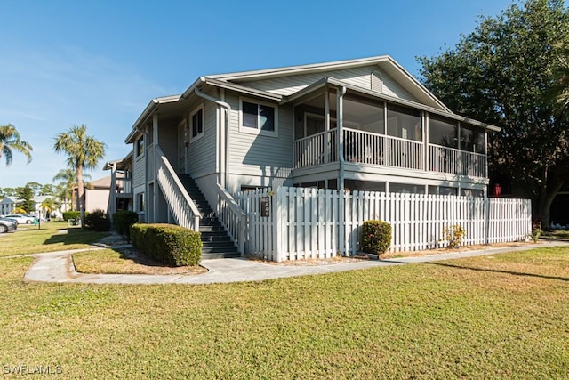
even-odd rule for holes
{"type": "Polygon", "coordinates": [[[453,49],[419,58],[423,84],[450,109],[502,128],[491,139],[491,176],[533,198],[545,225],[569,174],[569,125],[547,96],[559,46],[568,41],[563,0],[528,0],[482,16],[453,49]]]}

